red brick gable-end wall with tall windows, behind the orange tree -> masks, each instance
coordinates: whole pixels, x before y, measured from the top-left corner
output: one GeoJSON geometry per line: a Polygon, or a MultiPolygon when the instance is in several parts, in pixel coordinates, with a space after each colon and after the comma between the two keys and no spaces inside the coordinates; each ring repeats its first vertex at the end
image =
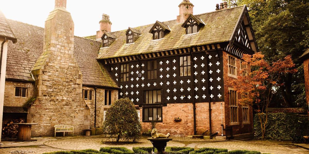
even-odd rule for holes
{"type": "MultiPolygon", "coordinates": [[[[224,101],[225,101],[225,127],[226,126],[233,126],[233,134],[244,134],[244,133],[251,133],[253,132],[253,114],[252,114],[252,107],[249,107],[249,121],[250,124],[243,124],[243,109],[242,105],[238,104],[238,120],[239,124],[231,125],[230,124],[230,98],[229,98],[229,88],[233,88],[230,82],[232,80],[236,80],[236,78],[228,76],[228,53],[223,51],[223,78],[224,78],[224,101]]],[[[236,58],[235,56],[233,56],[236,58]]],[[[240,69],[240,60],[236,58],[236,72],[239,75],[240,69]]],[[[238,94],[238,98],[241,98],[241,95],[238,94]]]]}

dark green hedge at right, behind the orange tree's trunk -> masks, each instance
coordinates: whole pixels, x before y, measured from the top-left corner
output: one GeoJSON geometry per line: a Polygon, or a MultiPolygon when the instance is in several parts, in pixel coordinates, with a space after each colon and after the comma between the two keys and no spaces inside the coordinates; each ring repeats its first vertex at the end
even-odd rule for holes
{"type": "MultiPolygon", "coordinates": [[[[268,113],[265,139],[270,140],[292,140],[293,134],[298,128],[308,128],[307,116],[293,113],[268,113]]],[[[254,137],[261,139],[261,125],[257,115],[254,117],[254,137]]]]}

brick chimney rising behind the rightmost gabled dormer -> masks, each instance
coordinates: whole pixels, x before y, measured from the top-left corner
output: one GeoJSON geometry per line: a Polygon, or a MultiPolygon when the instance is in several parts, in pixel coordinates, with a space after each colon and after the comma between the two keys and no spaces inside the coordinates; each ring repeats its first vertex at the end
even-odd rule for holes
{"type": "Polygon", "coordinates": [[[194,5],[190,0],[183,0],[179,4],[179,15],[177,15],[177,23],[182,23],[188,18],[188,14],[193,14],[194,5]]]}

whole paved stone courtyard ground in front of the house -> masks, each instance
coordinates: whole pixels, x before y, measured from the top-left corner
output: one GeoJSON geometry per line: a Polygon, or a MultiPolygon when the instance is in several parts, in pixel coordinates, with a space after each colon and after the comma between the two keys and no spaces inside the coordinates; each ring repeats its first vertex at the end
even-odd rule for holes
{"type": "MultiPolygon", "coordinates": [[[[152,144],[146,140],[147,136],[142,136],[138,143],[133,144],[102,144],[102,140],[107,140],[105,136],[74,136],[74,137],[36,137],[34,142],[15,142],[3,140],[0,147],[1,154],[11,153],[37,153],[53,152],[60,150],[82,150],[96,149],[101,147],[150,147],[152,144]]],[[[262,153],[272,154],[309,154],[306,147],[299,147],[299,144],[291,144],[291,141],[270,141],[270,140],[209,140],[192,139],[185,137],[172,137],[167,146],[191,147],[191,148],[227,148],[228,150],[256,150],[262,153]]],[[[308,147],[308,146],[307,146],[308,147]]]]}

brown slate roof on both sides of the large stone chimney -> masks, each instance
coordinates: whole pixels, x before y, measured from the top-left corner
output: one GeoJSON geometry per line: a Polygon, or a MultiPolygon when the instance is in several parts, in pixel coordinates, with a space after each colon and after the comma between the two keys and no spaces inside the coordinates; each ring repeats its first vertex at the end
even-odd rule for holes
{"type": "MultiPolygon", "coordinates": [[[[33,81],[30,71],[43,52],[44,28],[8,21],[19,41],[8,44],[6,78],[33,81]]],[[[74,37],[74,55],[83,73],[83,84],[118,87],[95,59],[100,44],[90,39],[74,37]]]]}

